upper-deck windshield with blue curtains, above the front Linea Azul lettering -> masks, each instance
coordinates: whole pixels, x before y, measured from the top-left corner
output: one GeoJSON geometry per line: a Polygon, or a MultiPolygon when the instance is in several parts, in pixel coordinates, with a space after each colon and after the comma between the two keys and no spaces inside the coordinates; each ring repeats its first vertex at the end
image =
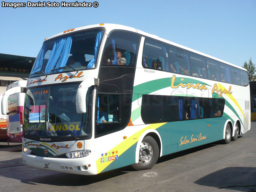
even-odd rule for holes
{"type": "Polygon", "coordinates": [[[92,30],[46,41],[29,77],[94,68],[102,34],[103,30],[92,30]]]}

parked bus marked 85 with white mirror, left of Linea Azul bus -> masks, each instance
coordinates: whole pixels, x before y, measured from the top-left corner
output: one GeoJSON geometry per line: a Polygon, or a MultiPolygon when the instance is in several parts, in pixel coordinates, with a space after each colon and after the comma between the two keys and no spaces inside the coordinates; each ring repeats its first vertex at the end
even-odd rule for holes
{"type": "Polygon", "coordinates": [[[16,81],[8,85],[2,99],[1,106],[2,113],[6,114],[8,142],[22,141],[22,114],[26,85],[26,80],[16,81]]]}

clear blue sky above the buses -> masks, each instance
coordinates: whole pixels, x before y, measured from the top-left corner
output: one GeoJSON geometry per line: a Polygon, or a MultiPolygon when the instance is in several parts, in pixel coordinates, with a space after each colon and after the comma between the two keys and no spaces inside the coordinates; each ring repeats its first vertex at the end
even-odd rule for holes
{"type": "MultiPolygon", "coordinates": [[[[85,25],[114,23],[137,28],[240,67],[250,58],[256,64],[256,0],[86,1],[97,1],[97,8],[12,8],[2,7],[3,1],[0,53],[36,57],[47,37],[85,25]]],[[[4,2],[27,5],[28,1],[4,2]]]]}

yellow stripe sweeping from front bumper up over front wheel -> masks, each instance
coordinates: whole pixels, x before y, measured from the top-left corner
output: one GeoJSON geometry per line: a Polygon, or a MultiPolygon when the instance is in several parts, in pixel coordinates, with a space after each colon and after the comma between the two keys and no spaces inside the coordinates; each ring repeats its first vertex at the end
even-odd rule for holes
{"type": "MultiPolygon", "coordinates": [[[[118,151],[118,156],[122,155],[127,149],[129,149],[130,147],[132,147],[132,145],[134,145],[136,142],[138,142],[138,140],[140,138],[140,135],[143,132],[145,132],[148,129],[157,129],[158,127],[160,127],[164,124],[166,124],[166,123],[157,123],[157,124],[148,125],[144,129],[141,129],[140,131],[134,133],[131,137],[127,138],[126,140],[124,140],[123,142],[118,144],[116,147],[109,150],[109,152],[117,150],[118,151]]],[[[111,156],[112,156],[112,154],[111,154],[111,156]]],[[[100,172],[102,172],[108,165],[110,165],[113,162],[113,161],[108,161],[108,162],[100,163],[101,158],[104,158],[104,157],[100,157],[98,160],[96,160],[98,174],[100,172]]]]}

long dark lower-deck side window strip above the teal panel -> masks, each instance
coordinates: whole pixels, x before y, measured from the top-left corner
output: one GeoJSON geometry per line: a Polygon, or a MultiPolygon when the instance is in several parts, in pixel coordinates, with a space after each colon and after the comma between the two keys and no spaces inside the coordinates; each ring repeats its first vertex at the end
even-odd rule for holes
{"type": "Polygon", "coordinates": [[[145,124],[221,117],[225,100],[165,95],[143,95],[141,118],[145,124]]]}

